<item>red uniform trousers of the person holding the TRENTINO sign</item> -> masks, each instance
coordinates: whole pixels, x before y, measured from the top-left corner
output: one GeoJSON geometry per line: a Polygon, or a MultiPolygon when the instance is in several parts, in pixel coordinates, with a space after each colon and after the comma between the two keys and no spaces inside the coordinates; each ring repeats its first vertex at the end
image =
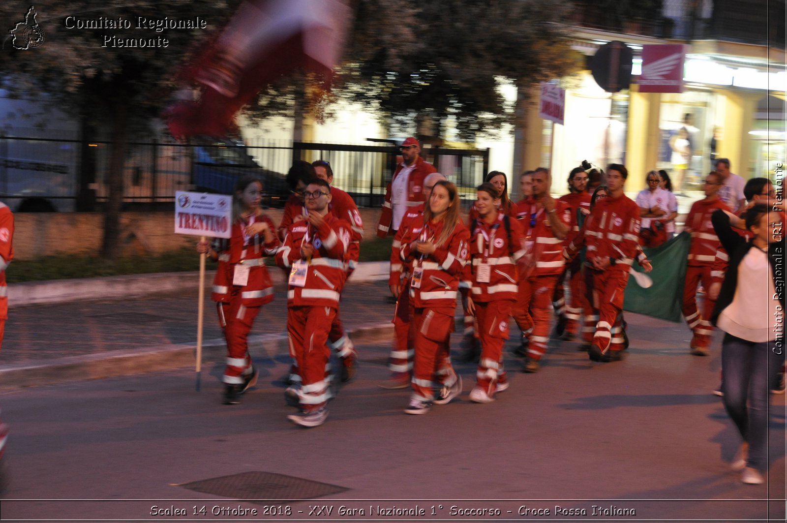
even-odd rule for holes
{"type": "Polygon", "coordinates": [[[224,368],[222,381],[232,385],[242,384],[243,376],[252,372],[249,332],[261,308],[241,304],[242,288],[234,285],[230,291],[230,302],[217,304],[219,313],[224,315],[226,322],[224,339],[227,341],[227,366],[224,368]]]}

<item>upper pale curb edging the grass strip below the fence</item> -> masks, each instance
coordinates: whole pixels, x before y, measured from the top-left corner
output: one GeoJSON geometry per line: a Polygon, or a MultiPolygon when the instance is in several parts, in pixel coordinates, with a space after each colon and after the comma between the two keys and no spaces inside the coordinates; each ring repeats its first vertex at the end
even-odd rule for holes
{"type": "MultiPolygon", "coordinates": [[[[389,261],[364,261],[349,277],[349,282],[387,280],[389,261]]],[[[205,287],[210,288],[215,270],[205,271],[205,287]]],[[[274,284],[285,283],[284,272],[269,270],[274,284]]],[[[76,278],[73,280],[33,281],[8,286],[9,307],[46,303],[77,302],[89,300],[141,298],[162,292],[193,289],[199,285],[199,273],[151,273],[131,276],[105,276],[76,278]]]]}

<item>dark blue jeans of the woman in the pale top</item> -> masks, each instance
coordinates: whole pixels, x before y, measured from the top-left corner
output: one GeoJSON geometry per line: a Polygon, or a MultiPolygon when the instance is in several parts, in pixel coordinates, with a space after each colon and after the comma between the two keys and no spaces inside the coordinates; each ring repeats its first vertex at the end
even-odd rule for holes
{"type": "Polygon", "coordinates": [[[746,466],[758,470],[767,468],[770,385],[784,358],[774,354],[770,345],[730,334],[722,340],[724,408],[748,443],[746,466]]]}

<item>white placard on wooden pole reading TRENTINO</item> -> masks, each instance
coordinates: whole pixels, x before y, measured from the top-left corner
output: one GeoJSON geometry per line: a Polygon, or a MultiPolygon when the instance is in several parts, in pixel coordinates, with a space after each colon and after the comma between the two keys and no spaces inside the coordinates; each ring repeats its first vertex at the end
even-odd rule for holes
{"type": "Polygon", "coordinates": [[[232,234],[231,226],[231,196],[176,191],[176,234],[229,238],[232,234]]]}

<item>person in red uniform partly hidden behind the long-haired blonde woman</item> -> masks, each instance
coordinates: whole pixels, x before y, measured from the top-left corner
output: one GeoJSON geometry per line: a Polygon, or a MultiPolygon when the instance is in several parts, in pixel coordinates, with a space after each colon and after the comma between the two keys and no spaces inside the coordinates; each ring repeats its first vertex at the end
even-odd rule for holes
{"type": "MultiPolygon", "coordinates": [[[[423,180],[423,195],[429,201],[432,188],[438,181],[445,180],[439,172],[432,172],[423,180]]],[[[413,307],[410,301],[410,275],[412,265],[403,262],[400,257],[401,240],[412,227],[421,227],[423,224],[423,203],[411,207],[402,218],[401,224],[393,238],[391,245],[390,276],[388,287],[391,294],[397,299],[396,310],[393,313],[393,332],[396,336],[395,345],[391,349],[388,368],[391,376],[379,384],[381,388],[396,389],[408,388],[412,375],[412,359],[415,354],[414,343],[416,332],[415,323],[412,321],[413,307]]]]}

